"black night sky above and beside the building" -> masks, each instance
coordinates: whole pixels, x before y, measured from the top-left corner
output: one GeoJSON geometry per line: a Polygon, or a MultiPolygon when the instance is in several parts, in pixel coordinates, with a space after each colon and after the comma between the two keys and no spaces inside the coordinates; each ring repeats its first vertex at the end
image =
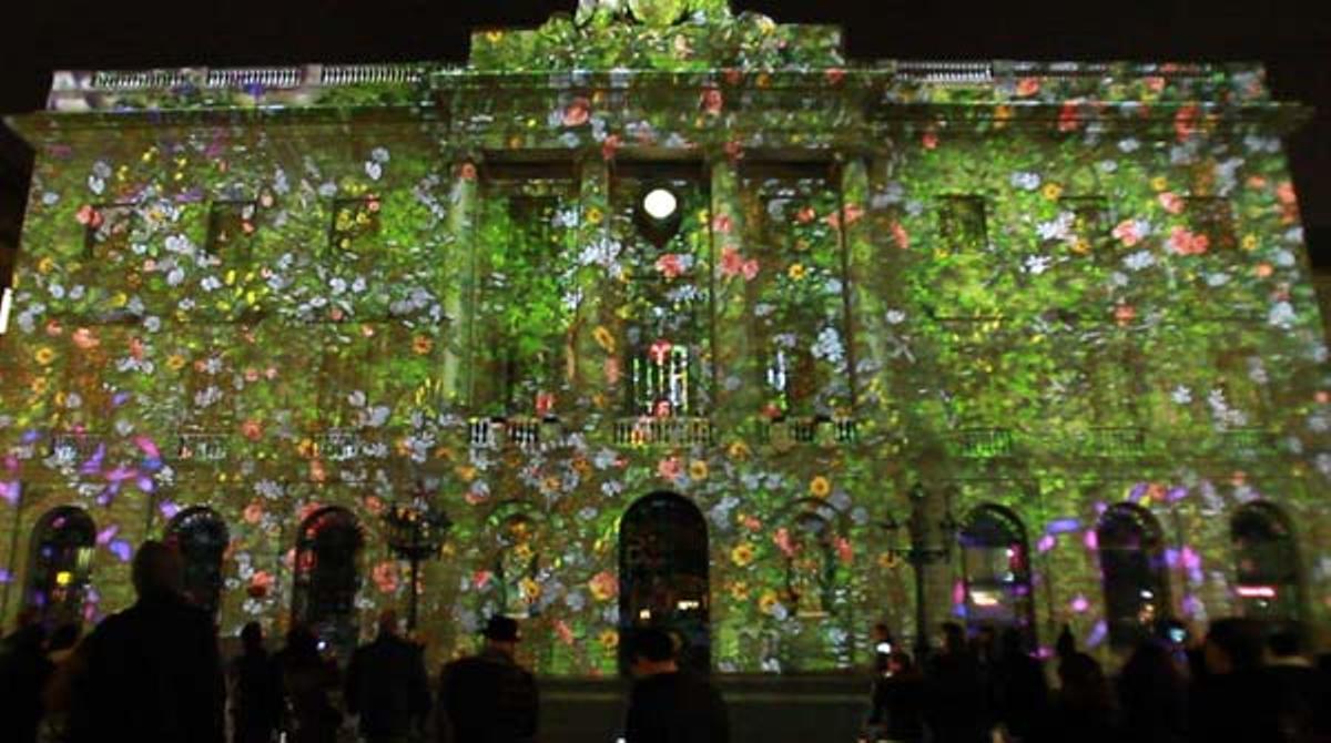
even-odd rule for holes
{"type": "MultiPolygon", "coordinates": [[[[45,0],[39,5],[39,0],[8,0],[20,8],[0,11],[0,113],[44,105],[49,71],[61,68],[463,61],[470,28],[536,25],[575,3],[45,0]]],[[[1326,237],[1331,232],[1331,3],[1326,0],[1000,0],[973,5],[732,0],[732,7],[777,21],[841,24],[855,59],[1264,61],[1280,99],[1319,109],[1290,144],[1315,258],[1331,266],[1326,237]]],[[[20,204],[27,160],[12,136],[0,134],[0,241],[3,213],[13,214],[20,204]]]]}

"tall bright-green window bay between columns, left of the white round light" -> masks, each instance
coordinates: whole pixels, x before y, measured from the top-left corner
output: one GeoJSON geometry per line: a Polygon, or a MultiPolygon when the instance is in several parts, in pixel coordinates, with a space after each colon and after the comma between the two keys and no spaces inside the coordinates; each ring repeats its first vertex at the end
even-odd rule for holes
{"type": "Polygon", "coordinates": [[[471,401],[480,415],[555,414],[575,346],[578,204],[571,162],[482,169],[471,401]]]}

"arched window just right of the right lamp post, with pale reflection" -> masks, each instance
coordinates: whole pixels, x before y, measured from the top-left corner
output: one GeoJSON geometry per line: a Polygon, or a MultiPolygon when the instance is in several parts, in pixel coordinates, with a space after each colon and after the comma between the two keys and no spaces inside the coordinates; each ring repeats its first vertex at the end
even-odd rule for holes
{"type": "Polygon", "coordinates": [[[966,623],[1016,627],[1034,640],[1036,602],[1026,530],[1010,510],[992,503],[970,511],[957,533],[966,623]]]}

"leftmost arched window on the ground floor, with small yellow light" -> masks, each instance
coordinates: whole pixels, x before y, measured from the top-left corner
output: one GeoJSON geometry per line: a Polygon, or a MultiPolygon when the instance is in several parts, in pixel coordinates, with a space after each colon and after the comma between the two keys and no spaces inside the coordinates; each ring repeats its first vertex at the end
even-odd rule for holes
{"type": "Polygon", "coordinates": [[[47,511],[33,527],[24,601],[48,627],[83,623],[96,543],[92,517],[75,506],[47,511]]]}

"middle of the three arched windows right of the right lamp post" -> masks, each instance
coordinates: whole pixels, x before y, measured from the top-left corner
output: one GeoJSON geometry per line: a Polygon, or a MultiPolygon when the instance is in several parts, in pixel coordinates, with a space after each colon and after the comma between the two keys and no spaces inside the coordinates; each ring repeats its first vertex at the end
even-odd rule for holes
{"type": "Polygon", "coordinates": [[[1165,537],[1146,509],[1115,503],[1101,517],[1095,538],[1109,642],[1131,646],[1171,614],[1165,537]]]}

